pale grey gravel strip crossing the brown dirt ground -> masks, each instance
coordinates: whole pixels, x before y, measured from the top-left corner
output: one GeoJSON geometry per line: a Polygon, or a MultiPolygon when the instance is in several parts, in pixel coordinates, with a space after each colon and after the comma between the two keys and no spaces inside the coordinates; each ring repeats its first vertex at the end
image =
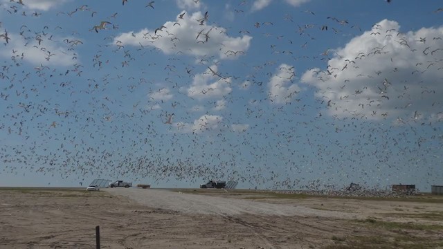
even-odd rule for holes
{"type": "Polygon", "coordinates": [[[354,214],[316,210],[297,205],[274,204],[242,199],[227,199],[200,194],[183,194],[168,190],[112,188],[110,194],[125,196],[151,208],[174,210],[186,214],[260,214],[277,216],[320,216],[336,219],[354,219],[354,214]]]}

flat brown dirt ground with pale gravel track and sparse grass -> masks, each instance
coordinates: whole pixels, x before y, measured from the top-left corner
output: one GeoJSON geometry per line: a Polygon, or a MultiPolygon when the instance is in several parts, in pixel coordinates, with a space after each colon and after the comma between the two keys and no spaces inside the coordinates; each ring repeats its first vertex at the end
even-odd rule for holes
{"type": "Polygon", "coordinates": [[[443,248],[443,196],[0,188],[0,248],[443,248]]]}

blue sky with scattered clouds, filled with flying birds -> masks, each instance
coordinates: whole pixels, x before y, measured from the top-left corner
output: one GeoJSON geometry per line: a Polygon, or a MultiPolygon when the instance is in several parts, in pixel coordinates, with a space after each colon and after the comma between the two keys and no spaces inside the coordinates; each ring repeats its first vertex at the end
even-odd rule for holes
{"type": "Polygon", "coordinates": [[[437,1],[0,3],[0,185],[443,184],[437,1]]]}

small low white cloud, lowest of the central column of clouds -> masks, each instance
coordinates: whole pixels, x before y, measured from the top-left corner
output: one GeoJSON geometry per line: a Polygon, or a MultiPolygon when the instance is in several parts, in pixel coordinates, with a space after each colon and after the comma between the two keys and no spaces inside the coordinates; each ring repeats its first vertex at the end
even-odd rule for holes
{"type": "Polygon", "coordinates": [[[205,131],[217,131],[222,129],[221,122],[223,118],[217,115],[204,115],[197,118],[192,123],[177,122],[174,126],[183,133],[193,132],[202,133],[205,131]]]}

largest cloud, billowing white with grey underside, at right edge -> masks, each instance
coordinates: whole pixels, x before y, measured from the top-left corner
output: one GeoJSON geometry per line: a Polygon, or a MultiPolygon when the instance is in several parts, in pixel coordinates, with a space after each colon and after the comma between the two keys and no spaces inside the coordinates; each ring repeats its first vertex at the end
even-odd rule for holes
{"type": "Polygon", "coordinates": [[[399,30],[380,21],[301,81],[318,89],[332,116],[435,120],[443,109],[443,27],[399,30]]]}

